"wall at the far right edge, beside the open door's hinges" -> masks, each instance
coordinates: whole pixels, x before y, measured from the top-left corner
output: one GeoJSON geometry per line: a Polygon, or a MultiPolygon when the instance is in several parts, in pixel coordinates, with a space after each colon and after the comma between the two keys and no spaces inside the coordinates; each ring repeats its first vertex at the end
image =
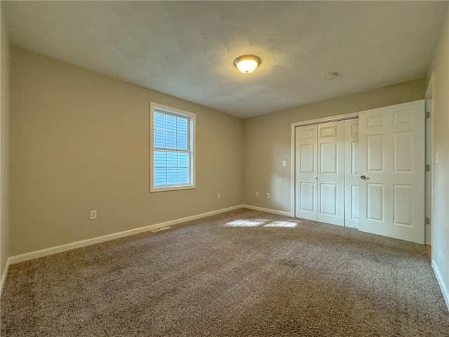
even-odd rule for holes
{"type": "Polygon", "coordinates": [[[449,255],[443,254],[443,240],[449,249],[449,11],[434,54],[428,82],[432,83],[431,116],[433,159],[432,263],[449,306],[449,255]],[[438,154],[438,164],[436,163],[438,154]]]}

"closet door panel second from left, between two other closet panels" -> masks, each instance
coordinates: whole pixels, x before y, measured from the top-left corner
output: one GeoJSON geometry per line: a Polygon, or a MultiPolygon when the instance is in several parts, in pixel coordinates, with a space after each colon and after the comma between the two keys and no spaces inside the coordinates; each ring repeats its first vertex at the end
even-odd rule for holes
{"type": "Polygon", "coordinates": [[[318,218],[344,225],[344,121],[318,125],[318,218]]]}

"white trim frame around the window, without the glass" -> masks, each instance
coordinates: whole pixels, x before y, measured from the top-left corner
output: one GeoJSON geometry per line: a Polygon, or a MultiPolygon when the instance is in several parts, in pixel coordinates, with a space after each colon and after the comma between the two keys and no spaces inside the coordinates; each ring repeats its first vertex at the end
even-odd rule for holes
{"type": "Polygon", "coordinates": [[[184,110],[168,107],[159,103],[150,103],[149,113],[149,192],[165,192],[177,190],[192,190],[196,188],[196,114],[184,110]],[[169,114],[178,114],[183,117],[189,117],[189,147],[190,147],[190,180],[189,185],[174,185],[173,187],[154,187],[154,110],[167,112],[169,114]]]}

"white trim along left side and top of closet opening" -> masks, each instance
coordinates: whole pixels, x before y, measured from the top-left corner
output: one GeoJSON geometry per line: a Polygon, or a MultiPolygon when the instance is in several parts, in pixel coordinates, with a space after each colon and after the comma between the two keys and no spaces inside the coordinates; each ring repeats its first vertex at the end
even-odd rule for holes
{"type": "Polygon", "coordinates": [[[351,112],[350,114],[339,114],[332,117],[323,117],[318,119],[309,119],[307,121],[296,121],[291,124],[291,136],[290,136],[290,214],[295,217],[295,201],[296,201],[296,191],[295,191],[295,128],[297,126],[306,126],[311,124],[327,123],[330,121],[343,121],[345,119],[358,118],[358,112],[351,112]]]}

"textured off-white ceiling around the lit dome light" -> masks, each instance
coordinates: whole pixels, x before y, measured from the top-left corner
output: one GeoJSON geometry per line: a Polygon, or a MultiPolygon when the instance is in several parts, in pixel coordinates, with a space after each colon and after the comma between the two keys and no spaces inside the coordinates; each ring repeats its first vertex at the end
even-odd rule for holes
{"type": "Polygon", "coordinates": [[[1,6],[17,46],[246,118],[425,77],[448,1],[1,6]],[[253,74],[233,65],[246,53],[253,74]]]}

